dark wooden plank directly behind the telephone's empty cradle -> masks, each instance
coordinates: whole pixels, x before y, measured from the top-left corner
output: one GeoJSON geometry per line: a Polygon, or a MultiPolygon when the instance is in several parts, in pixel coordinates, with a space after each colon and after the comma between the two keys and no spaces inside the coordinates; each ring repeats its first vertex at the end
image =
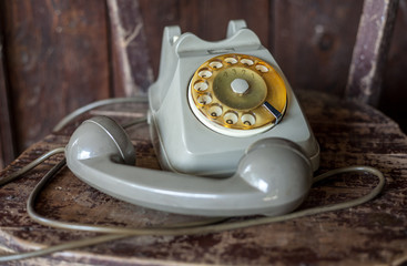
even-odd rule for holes
{"type": "Polygon", "coordinates": [[[230,20],[244,19],[268,47],[269,1],[268,0],[141,0],[141,11],[150,45],[150,54],[156,76],[160,63],[161,40],[165,25],[179,24],[182,32],[192,32],[207,41],[226,37],[230,20]]]}

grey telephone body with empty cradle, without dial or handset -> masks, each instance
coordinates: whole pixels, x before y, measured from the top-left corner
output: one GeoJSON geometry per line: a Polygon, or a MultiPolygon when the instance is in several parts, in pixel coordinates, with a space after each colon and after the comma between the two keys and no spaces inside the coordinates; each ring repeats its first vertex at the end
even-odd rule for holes
{"type": "MultiPolygon", "coordinates": [[[[225,65],[227,66],[227,65],[225,65]]],[[[233,68],[231,65],[230,68],[233,68]]],[[[319,164],[319,146],[282,70],[257,35],[243,20],[230,21],[226,39],[204,41],[192,33],[181,34],[179,27],[164,29],[157,81],[149,91],[151,139],[163,168],[203,176],[226,176],[236,171],[238,161],[255,141],[282,137],[298,144],[315,171],[319,164]],[[242,59],[255,57],[268,63],[286,88],[284,117],[262,133],[232,135],[215,132],[197,119],[189,104],[191,76],[200,65],[220,54],[242,59]]],[[[227,131],[226,129],[225,131],[227,131]]],[[[235,134],[233,131],[236,131],[235,134]]],[[[253,131],[253,130],[242,130],[253,131]]]]}

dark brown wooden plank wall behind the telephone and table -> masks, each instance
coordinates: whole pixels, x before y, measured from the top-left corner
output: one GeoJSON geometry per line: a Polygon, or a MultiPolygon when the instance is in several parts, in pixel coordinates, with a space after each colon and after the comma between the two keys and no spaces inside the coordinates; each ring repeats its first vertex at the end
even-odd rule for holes
{"type": "MultiPolygon", "coordinates": [[[[95,100],[144,94],[163,27],[215,41],[245,19],[294,90],[342,96],[363,0],[2,0],[0,168],[95,100]]],[[[400,0],[379,110],[407,129],[407,0],[400,0]]]]}

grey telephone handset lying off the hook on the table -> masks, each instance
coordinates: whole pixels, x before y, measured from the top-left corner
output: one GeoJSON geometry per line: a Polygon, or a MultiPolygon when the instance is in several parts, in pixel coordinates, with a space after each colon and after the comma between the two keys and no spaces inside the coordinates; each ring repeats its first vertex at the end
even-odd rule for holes
{"type": "Polygon", "coordinates": [[[135,167],[122,127],[104,116],[88,120],[65,147],[69,168],[114,197],[160,211],[202,215],[279,215],[294,211],[312,185],[312,166],[294,143],[265,139],[242,157],[236,173],[215,180],[135,167]]]}

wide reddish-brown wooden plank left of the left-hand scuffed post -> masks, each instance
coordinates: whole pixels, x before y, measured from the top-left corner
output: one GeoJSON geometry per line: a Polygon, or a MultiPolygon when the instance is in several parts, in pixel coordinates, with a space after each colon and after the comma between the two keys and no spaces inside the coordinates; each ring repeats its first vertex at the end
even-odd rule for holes
{"type": "Polygon", "coordinates": [[[3,1],[4,52],[18,152],[67,113],[109,98],[103,1],[3,1]]]}

